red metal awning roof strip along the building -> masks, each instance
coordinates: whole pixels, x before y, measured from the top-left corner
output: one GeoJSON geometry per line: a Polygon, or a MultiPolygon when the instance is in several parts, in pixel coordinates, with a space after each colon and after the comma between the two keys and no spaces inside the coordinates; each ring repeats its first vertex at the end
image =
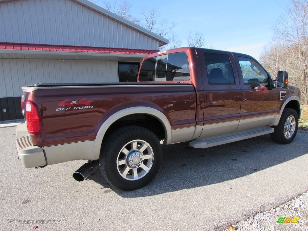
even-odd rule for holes
{"type": "Polygon", "coordinates": [[[133,55],[150,55],[157,51],[128,49],[128,48],[109,48],[109,47],[82,47],[66,45],[46,45],[46,44],[27,44],[27,43],[1,43],[0,50],[28,50],[28,51],[71,51],[86,53],[116,53],[133,55]]]}

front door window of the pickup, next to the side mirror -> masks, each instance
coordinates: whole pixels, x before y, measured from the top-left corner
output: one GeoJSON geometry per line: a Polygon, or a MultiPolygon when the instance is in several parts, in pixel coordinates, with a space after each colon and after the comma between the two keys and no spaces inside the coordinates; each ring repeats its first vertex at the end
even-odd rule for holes
{"type": "Polygon", "coordinates": [[[268,75],[266,71],[255,60],[247,57],[238,57],[240,63],[244,84],[250,85],[268,85],[268,75]]]}

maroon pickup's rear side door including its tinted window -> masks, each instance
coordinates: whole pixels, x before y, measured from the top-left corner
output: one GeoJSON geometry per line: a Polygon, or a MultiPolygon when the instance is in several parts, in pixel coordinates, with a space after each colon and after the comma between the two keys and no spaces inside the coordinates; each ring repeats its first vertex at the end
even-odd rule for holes
{"type": "MultiPolygon", "coordinates": [[[[200,56],[201,54],[198,54],[200,56]]],[[[204,126],[201,138],[234,132],[240,121],[241,90],[229,52],[203,52],[204,126]]]]}

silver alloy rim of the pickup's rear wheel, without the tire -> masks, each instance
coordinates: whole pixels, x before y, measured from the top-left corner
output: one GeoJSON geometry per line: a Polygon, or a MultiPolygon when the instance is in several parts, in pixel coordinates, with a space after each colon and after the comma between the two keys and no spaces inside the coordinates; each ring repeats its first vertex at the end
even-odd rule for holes
{"type": "Polygon", "coordinates": [[[121,148],[117,157],[117,169],[126,180],[138,180],[153,165],[153,149],[144,140],[132,140],[121,148]]]}

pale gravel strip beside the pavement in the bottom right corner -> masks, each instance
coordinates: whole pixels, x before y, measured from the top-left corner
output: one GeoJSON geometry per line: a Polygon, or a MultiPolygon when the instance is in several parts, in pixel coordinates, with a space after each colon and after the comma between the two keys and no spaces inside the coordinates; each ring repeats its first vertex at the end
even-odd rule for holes
{"type": "Polygon", "coordinates": [[[268,211],[257,213],[245,221],[228,226],[225,231],[232,230],[308,230],[308,192],[295,197],[291,201],[271,208],[268,211]],[[279,217],[300,217],[297,223],[277,223],[279,217]]]}

